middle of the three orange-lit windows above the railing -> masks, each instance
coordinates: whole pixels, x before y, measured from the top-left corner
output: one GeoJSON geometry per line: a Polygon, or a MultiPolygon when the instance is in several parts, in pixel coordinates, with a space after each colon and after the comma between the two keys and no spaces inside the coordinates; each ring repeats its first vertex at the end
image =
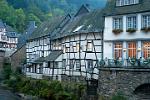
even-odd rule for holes
{"type": "Polygon", "coordinates": [[[128,43],[128,57],[130,58],[136,57],[136,42],[128,43]]]}

